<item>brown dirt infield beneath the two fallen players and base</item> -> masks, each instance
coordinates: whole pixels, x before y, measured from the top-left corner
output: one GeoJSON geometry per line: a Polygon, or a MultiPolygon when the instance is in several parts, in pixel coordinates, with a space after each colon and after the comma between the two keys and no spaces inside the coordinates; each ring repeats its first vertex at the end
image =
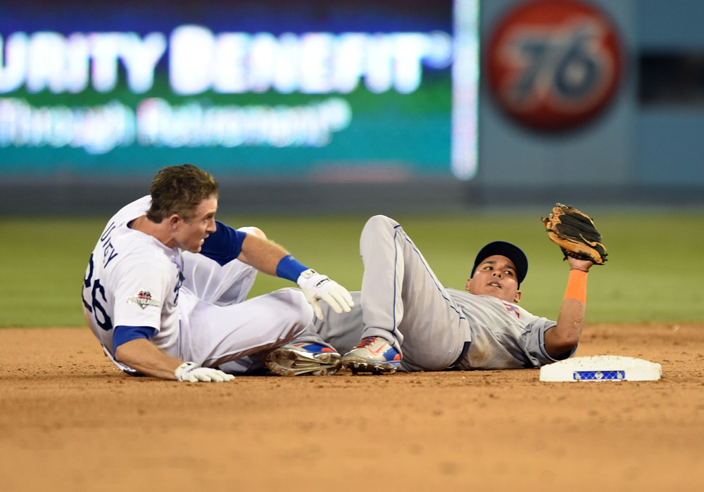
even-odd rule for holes
{"type": "Polygon", "coordinates": [[[703,490],[704,324],[589,325],[596,354],[662,379],[187,384],[122,375],[87,329],[0,330],[0,490],[703,490]]]}

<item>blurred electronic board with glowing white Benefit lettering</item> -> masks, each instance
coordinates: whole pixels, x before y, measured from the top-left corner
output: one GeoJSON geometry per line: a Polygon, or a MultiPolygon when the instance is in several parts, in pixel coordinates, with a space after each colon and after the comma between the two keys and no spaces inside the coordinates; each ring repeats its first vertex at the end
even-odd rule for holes
{"type": "Polygon", "coordinates": [[[478,0],[0,8],[1,176],[471,179],[478,0]]]}

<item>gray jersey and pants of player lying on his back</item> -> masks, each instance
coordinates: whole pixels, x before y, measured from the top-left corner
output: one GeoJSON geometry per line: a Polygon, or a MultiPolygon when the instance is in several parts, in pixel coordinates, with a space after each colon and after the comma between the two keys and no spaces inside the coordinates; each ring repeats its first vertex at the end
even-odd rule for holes
{"type": "MultiPolygon", "coordinates": [[[[344,353],[361,338],[389,340],[405,370],[515,369],[555,362],[544,348],[555,321],[497,297],[441,285],[398,222],[374,216],[360,240],[362,292],[352,313],[325,309],[308,336],[344,353]],[[313,334],[315,332],[315,334],[313,334]]],[[[569,356],[572,356],[572,351],[569,356]]]]}

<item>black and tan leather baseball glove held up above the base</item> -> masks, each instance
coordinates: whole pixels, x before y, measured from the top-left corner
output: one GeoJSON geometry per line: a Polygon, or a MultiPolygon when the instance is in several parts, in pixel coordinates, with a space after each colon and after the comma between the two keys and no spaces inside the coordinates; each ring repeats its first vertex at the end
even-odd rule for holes
{"type": "Polygon", "coordinates": [[[565,259],[568,256],[591,259],[597,265],[603,265],[606,261],[607,252],[601,244],[601,233],[589,215],[557,203],[550,216],[543,218],[543,225],[548,238],[560,246],[565,259]]]}

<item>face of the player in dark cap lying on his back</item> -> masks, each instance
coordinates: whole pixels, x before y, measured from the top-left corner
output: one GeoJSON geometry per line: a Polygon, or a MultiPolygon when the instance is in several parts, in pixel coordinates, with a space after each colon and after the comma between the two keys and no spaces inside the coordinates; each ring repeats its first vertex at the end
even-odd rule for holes
{"type": "Polygon", "coordinates": [[[501,254],[494,254],[482,261],[474,275],[467,280],[467,290],[472,294],[491,295],[508,302],[518,302],[516,267],[513,261],[501,254]]]}

